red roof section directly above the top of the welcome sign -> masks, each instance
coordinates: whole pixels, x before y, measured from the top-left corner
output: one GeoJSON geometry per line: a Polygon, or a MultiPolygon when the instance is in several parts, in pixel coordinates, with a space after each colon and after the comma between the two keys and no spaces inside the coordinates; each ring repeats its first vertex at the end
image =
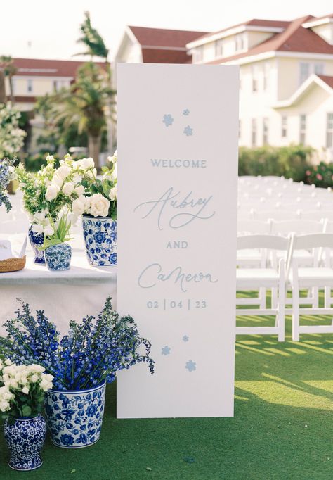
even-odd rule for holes
{"type": "Polygon", "coordinates": [[[189,30],[169,30],[165,28],[136,27],[129,25],[129,29],[141,46],[161,46],[185,49],[188,42],[201,37],[206,32],[192,32],[189,30]]]}

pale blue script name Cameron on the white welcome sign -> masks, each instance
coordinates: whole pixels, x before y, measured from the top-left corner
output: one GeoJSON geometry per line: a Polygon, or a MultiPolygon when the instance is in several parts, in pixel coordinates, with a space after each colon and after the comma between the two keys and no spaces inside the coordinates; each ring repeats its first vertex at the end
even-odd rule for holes
{"type": "Polygon", "coordinates": [[[138,277],[138,285],[141,286],[141,289],[152,289],[157,282],[172,282],[177,284],[183,292],[187,291],[186,284],[204,281],[211,284],[218,282],[217,279],[211,278],[210,273],[185,273],[182,267],[176,267],[171,272],[162,272],[162,265],[159,263],[148,265],[138,277]]]}

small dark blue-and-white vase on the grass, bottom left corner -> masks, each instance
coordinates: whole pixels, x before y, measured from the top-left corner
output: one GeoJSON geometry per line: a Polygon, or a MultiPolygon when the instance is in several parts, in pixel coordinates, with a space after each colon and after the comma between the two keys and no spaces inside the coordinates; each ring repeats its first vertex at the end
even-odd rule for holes
{"type": "Polygon", "coordinates": [[[46,436],[44,417],[15,419],[13,425],[5,422],[4,434],[11,453],[9,467],[14,470],[34,470],[41,466],[41,448],[46,436]]]}

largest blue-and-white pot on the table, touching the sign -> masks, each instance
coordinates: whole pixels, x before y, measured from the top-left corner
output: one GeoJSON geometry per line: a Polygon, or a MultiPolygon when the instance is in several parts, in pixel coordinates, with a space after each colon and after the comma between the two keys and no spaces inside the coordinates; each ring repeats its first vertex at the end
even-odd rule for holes
{"type": "Polygon", "coordinates": [[[91,265],[117,265],[117,221],[83,216],[84,243],[91,265]]]}

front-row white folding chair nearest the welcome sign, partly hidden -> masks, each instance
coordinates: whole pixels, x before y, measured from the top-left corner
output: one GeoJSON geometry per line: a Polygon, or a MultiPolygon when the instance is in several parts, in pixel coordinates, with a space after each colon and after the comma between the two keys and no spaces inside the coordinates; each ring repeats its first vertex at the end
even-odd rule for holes
{"type": "MultiPolygon", "coordinates": [[[[251,248],[261,251],[287,251],[289,240],[282,236],[274,235],[245,235],[237,237],[237,251],[251,248]]],[[[263,304],[262,299],[237,298],[237,306],[261,305],[260,308],[237,308],[236,315],[274,315],[274,327],[236,327],[238,335],[272,335],[278,334],[278,341],[285,339],[285,262],[281,258],[278,267],[268,268],[264,265],[261,268],[237,268],[237,291],[261,291],[261,289],[278,289],[278,305],[266,308],[266,298],[263,304]]]]}

